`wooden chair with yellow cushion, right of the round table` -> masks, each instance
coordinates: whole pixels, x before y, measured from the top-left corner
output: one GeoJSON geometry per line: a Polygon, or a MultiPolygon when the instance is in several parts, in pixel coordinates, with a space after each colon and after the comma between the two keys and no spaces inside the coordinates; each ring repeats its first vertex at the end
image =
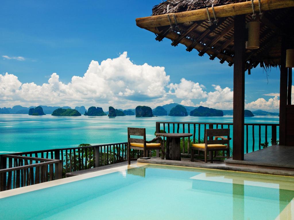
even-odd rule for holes
{"type": "MultiPolygon", "coordinates": [[[[207,153],[210,151],[226,151],[226,158],[230,157],[230,129],[206,129],[205,143],[203,144],[192,144],[191,146],[191,162],[194,161],[194,150],[204,151],[204,162],[207,163],[207,153]],[[224,137],[226,136],[226,137],[224,137]],[[213,137],[214,140],[213,140],[213,137]],[[221,138],[221,140],[218,140],[221,138]]],[[[223,157],[223,156],[219,156],[223,157]]],[[[213,152],[211,153],[211,159],[209,160],[213,163],[213,152]]],[[[203,161],[200,161],[203,162],[203,161]]]]}

